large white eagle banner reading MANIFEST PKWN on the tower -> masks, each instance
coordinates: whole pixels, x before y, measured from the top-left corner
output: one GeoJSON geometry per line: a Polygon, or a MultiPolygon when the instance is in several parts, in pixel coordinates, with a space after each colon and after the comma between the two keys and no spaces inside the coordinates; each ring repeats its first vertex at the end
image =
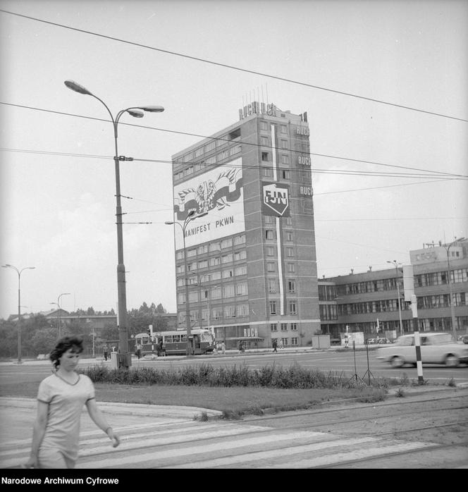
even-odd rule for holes
{"type": "MultiPolygon", "coordinates": [[[[174,187],[174,220],[183,224],[191,210],[208,215],[187,224],[186,247],[244,232],[242,158],[174,187]]],[[[180,250],[183,248],[182,228],[175,230],[176,249],[180,250]]]]}

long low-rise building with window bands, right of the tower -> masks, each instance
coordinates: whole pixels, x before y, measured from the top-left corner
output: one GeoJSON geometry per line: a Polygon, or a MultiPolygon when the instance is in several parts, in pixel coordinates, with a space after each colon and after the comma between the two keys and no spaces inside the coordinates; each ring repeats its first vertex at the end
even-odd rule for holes
{"type": "MultiPolygon", "coordinates": [[[[426,246],[410,251],[419,330],[451,332],[455,325],[457,335],[468,333],[468,240],[426,246]]],[[[400,265],[321,279],[319,300],[322,332],[330,333],[332,340],[338,340],[346,327],[367,338],[413,331],[400,265]]]]}

